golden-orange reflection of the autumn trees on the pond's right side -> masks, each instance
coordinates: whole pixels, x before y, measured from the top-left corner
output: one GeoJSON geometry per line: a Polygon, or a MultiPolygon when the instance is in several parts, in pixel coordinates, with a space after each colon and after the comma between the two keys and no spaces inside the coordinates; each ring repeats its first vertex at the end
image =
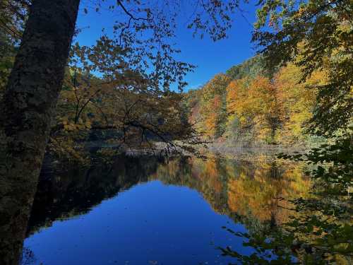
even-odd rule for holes
{"type": "Polygon", "coordinates": [[[166,184],[191,187],[218,213],[273,220],[281,224],[289,217],[288,201],[304,197],[311,186],[299,164],[225,158],[184,158],[159,165],[150,178],[166,184]]]}

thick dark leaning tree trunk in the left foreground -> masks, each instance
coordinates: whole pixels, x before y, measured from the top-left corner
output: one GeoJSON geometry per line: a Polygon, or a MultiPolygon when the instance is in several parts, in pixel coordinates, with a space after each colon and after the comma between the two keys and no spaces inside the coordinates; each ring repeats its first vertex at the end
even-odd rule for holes
{"type": "Polygon", "coordinates": [[[34,0],[0,124],[0,264],[18,264],[80,0],[34,0]]]}

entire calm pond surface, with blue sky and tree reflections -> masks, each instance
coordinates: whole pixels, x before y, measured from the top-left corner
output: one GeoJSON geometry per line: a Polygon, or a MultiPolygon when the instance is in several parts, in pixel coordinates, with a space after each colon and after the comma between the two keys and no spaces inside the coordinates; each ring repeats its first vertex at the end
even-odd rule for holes
{"type": "Polygon", "coordinates": [[[237,264],[243,239],[289,213],[276,198],[303,196],[299,165],[210,158],[121,157],[113,165],[44,168],[23,264],[237,264]]]}

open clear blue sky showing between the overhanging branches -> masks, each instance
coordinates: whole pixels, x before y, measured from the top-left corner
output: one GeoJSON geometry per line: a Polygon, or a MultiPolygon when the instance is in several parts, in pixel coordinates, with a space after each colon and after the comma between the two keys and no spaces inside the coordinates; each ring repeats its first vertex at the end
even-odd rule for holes
{"type": "MultiPolygon", "coordinates": [[[[109,11],[97,13],[94,8],[88,8],[88,14],[85,14],[84,5],[87,6],[85,1],[78,15],[77,25],[83,30],[78,35],[77,41],[81,45],[92,45],[97,37],[102,35],[102,28],[108,31],[112,28],[114,20],[118,18],[116,13],[109,11]]],[[[241,10],[243,11],[237,11],[234,14],[234,26],[229,30],[227,39],[217,42],[213,42],[208,36],[205,36],[203,40],[193,37],[191,30],[186,28],[185,21],[179,23],[176,42],[177,47],[181,49],[181,54],[178,59],[197,66],[193,73],[186,76],[186,81],[189,83],[186,90],[202,86],[216,73],[225,72],[231,66],[253,56],[255,49],[250,40],[252,24],[256,20],[256,6],[243,4],[241,10]]]]}

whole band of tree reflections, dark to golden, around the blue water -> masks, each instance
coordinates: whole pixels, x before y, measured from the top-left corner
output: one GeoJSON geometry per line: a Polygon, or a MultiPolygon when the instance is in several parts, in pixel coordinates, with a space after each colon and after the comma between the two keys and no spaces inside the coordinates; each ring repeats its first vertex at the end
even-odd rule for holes
{"type": "MultiPolygon", "coordinates": [[[[153,180],[196,190],[213,211],[244,224],[252,232],[287,220],[286,208],[290,206],[280,198],[306,196],[310,187],[301,165],[279,161],[237,161],[215,156],[207,160],[178,157],[167,161],[147,155],[121,155],[112,165],[95,163],[65,170],[51,165],[42,170],[27,236],[52,226],[55,220],[88,213],[104,199],[153,180]]],[[[24,250],[25,260],[34,259],[32,256],[30,249],[24,250]]]]}

